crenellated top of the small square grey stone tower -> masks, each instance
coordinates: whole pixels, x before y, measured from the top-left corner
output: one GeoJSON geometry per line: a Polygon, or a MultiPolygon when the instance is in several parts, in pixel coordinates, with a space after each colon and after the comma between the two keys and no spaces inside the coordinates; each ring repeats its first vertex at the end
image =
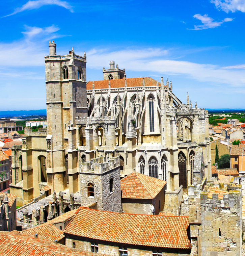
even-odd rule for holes
{"type": "Polygon", "coordinates": [[[79,169],[83,173],[102,174],[119,166],[119,156],[110,158],[108,161],[106,157],[98,157],[93,158],[90,162],[80,163],[79,169]]]}

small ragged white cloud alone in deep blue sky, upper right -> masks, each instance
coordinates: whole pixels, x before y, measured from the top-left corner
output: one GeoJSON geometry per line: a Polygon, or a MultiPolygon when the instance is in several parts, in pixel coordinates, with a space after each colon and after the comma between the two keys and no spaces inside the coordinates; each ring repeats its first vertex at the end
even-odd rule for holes
{"type": "Polygon", "coordinates": [[[234,20],[232,18],[225,18],[224,20],[218,22],[218,21],[214,21],[214,19],[212,19],[211,17],[208,17],[207,14],[205,14],[203,16],[200,14],[195,14],[193,17],[196,18],[197,20],[200,20],[203,25],[198,25],[198,26],[194,25],[194,28],[189,29],[189,30],[202,30],[202,29],[208,29],[208,28],[217,28],[224,22],[234,20]]]}

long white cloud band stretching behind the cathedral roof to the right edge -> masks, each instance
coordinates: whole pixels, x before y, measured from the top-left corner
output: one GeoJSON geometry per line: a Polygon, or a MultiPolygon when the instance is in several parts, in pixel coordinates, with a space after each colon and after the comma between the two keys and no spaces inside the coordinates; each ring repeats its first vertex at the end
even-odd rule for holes
{"type": "Polygon", "coordinates": [[[92,49],[87,52],[87,67],[101,69],[105,63],[116,60],[119,68],[126,68],[126,73],[137,71],[158,76],[182,75],[196,81],[207,82],[209,85],[245,87],[245,73],[242,70],[228,70],[227,67],[218,65],[173,60],[172,55],[174,55],[174,49],[126,49],[113,52],[108,49],[92,49]]]}

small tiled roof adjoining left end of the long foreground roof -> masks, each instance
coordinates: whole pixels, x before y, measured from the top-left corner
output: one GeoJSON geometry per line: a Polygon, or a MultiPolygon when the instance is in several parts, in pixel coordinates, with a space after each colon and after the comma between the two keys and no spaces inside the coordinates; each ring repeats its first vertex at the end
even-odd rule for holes
{"type": "Polygon", "coordinates": [[[40,238],[45,238],[50,241],[58,240],[60,241],[65,236],[63,232],[56,228],[54,225],[49,224],[49,222],[42,224],[40,226],[36,226],[35,228],[29,228],[21,231],[23,234],[34,235],[37,234],[40,238]]]}

